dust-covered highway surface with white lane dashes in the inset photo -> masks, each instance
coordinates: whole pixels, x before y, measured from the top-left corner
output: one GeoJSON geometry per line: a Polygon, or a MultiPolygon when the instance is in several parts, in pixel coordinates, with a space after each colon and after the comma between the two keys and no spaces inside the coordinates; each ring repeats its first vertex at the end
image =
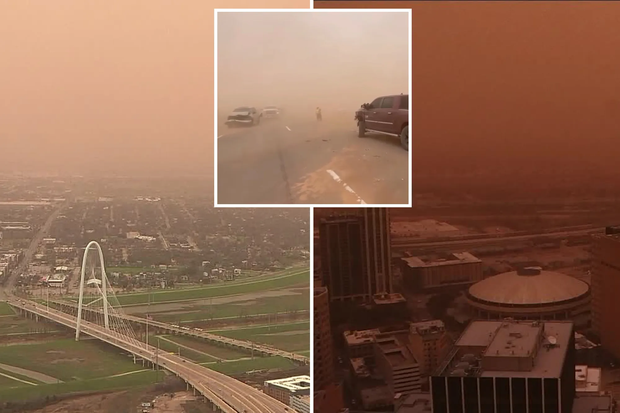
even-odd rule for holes
{"type": "Polygon", "coordinates": [[[397,138],[358,138],[344,116],[219,127],[218,204],[407,205],[409,152],[397,138]]]}

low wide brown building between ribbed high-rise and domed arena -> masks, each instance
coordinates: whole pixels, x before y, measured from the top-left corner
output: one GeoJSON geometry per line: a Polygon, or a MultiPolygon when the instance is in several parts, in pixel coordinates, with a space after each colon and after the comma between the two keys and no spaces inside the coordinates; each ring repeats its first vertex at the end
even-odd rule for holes
{"type": "Polygon", "coordinates": [[[482,280],[482,261],[469,252],[401,259],[403,281],[412,290],[471,285],[482,280]]]}

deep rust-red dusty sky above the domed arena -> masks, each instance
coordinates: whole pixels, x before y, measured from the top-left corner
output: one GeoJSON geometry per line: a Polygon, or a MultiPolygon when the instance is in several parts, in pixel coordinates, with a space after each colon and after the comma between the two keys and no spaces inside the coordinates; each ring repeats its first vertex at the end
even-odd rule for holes
{"type": "Polygon", "coordinates": [[[619,2],[412,2],[414,192],[620,193],[619,21],[619,2]]]}

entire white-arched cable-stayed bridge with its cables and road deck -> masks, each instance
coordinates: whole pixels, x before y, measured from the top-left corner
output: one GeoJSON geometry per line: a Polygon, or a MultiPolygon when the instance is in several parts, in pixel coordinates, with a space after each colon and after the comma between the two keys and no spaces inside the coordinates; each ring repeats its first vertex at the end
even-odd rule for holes
{"type": "Polygon", "coordinates": [[[47,319],[74,329],[76,340],[79,340],[80,334],[87,334],[115,345],[146,363],[171,371],[182,378],[188,388],[191,387],[194,392],[205,396],[205,400],[210,401],[213,407],[224,413],[294,412],[282,402],[248,384],[197,365],[179,355],[162,352],[153,345],[138,340],[131,324],[133,321],[123,314],[122,307],[108,283],[103,252],[95,241],[89,242],[84,251],[77,317],[34,301],[11,298],[8,303],[27,316],[47,319]],[[89,254],[92,250],[97,252],[94,257],[89,254]],[[96,265],[97,261],[99,266],[96,265]],[[91,287],[89,290],[94,293],[89,295],[89,290],[86,290],[85,296],[85,286],[91,287]],[[82,313],[88,311],[84,308],[93,309],[89,311],[88,320],[82,319],[82,313]]]}

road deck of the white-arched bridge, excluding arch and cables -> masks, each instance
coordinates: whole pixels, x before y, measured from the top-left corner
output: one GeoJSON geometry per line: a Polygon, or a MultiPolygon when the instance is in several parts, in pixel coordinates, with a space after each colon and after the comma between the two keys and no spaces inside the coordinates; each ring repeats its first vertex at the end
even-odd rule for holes
{"type": "MultiPolygon", "coordinates": [[[[32,301],[25,301],[24,304],[22,301],[11,300],[9,303],[14,307],[25,309],[72,329],[76,328],[77,319],[69,314],[61,313],[55,309],[47,309],[45,306],[32,301]]],[[[141,358],[151,360],[151,362],[157,363],[162,368],[176,373],[196,388],[197,391],[217,404],[225,413],[294,412],[293,409],[280,401],[239,380],[189,362],[178,355],[161,351],[157,352],[157,349],[153,346],[147,346],[142,342],[130,339],[118,332],[107,330],[97,324],[82,321],[81,332],[115,345],[141,358]]]]}

